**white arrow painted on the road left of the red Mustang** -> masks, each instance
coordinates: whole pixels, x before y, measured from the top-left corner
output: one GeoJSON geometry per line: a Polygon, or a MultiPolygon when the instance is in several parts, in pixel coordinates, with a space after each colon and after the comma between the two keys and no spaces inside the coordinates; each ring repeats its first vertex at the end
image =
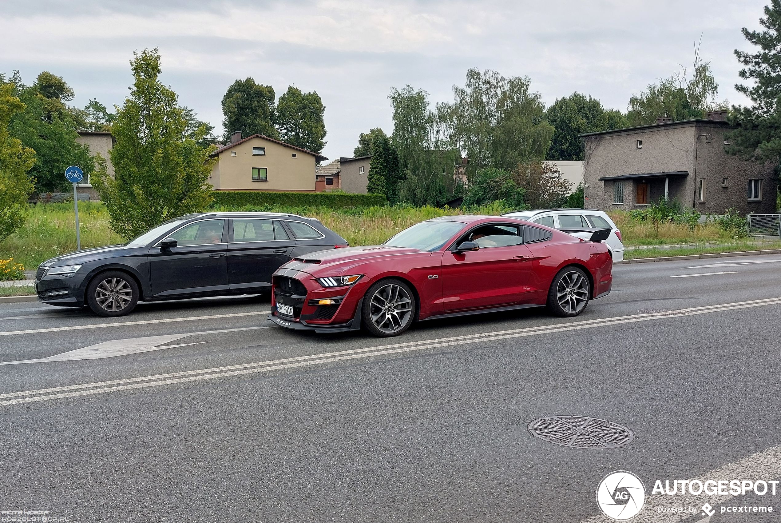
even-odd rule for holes
{"type": "Polygon", "coordinates": [[[174,347],[184,347],[188,345],[198,345],[206,342],[179,343],[177,345],[163,345],[164,343],[175,342],[177,339],[187,338],[188,336],[217,334],[220,332],[251,331],[261,328],[271,328],[271,325],[264,327],[241,327],[227,328],[216,331],[185,332],[184,334],[168,334],[159,336],[144,336],[141,338],[112,339],[108,342],[96,343],[81,349],[69,350],[66,353],[55,354],[45,358],[35,358],[34,360],[16,360],[0,361],[0,365],[16,364],[39,364],[47,361],[73,361],[73,360],[100,360],[102,358],[112,358],[115,356],[127,356],[128,354],[147,353],[151,350],[173,349],[174,347]]]}

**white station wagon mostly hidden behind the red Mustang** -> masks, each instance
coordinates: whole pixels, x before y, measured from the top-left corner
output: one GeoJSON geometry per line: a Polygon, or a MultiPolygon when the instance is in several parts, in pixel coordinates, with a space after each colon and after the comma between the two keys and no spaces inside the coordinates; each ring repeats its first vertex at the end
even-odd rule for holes
{"type": "MultiPolygon", "coordinates": [[[[546,225],[555,229],[590,227],[598,229],[610,228],[610,236],[604,242],[608,245],[608,251],[613,256],[614,262],[624,259],[624,244],[621,242],[621,231],[608,213],[592,209],[544,209],[544,210],[517,210],[502,216],[512,216],[521,220],[530,221],[533,224],[546,225]]],[[[588,239],[590,233],[573,232],[573,236],[588,239]]]]}

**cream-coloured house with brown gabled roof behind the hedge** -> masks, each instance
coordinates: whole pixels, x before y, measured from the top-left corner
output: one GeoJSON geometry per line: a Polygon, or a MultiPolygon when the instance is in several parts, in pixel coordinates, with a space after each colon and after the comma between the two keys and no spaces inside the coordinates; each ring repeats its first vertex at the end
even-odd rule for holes
{"type": "Polygon", "coordinates": [[[260,134],[241,138],[241,132],[236,132],[230,144],[212,156],[218,159],[209,177],[215,191],[326,190],[325,181],[316,182],[315,177],[316,165],[325,156],[260,134]]]}

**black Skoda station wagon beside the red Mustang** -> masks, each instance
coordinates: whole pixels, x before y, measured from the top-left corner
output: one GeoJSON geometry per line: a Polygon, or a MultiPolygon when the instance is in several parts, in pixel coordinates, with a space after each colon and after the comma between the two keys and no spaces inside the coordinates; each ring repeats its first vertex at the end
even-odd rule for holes
{"type": "Polygon", "coordinates": [[[314,218],[282,213],[198,213],[168,220],[124,245],[47,260],[38,299],[123,316],[139,300],[262,294],[296,256],[347,246],[314,218]]]}

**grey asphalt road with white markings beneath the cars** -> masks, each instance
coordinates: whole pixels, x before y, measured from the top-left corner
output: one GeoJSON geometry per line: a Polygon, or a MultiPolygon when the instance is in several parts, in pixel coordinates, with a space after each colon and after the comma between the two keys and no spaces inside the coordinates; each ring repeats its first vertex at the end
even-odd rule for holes
{"type": "Polygon", "coordinates": [[[0,305],[2,517],[595,523],[597,485],[626,470],[647,491],[633,521],[701,521],[706,501],[704,521],[781,519],[781,485],[651,493],[781,478],[781,256],[614,275],[580,317],[427,321],[396,339],[282,330],[258,298],[110,319],[0,305]],[[528,430],[565,415],[634,439],[579,449],[528,430]],[[738,505],[775,510],[719,512],[738,505]]]}

